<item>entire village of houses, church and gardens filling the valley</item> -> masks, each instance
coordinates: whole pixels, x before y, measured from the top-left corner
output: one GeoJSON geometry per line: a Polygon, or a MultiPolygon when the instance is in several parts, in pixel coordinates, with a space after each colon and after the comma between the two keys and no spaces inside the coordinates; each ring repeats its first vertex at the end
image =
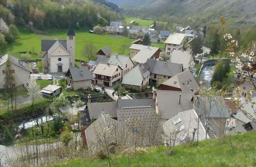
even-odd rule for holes
{"type": "MultiPolygon", "coordinates": [[[[251,77],[250,71],[256,70],[255,64],[251,62],[249,70],[243,68],[243,76],[233,73],[234,64],[227,58],[208,57],[210,48],[201,46],[199,53],[193,50],[196,43],[193,41],[204,37],[204,28],[195,31],[190,26],[177,26],[173,31],[159,31],[155,24],[143,27],[134,20],[128,24],[113,21],[109,26],[95,26],[89,31],[133,37],[129,55],[113,53],[109,46],[104,46],[91,53],[88,62],[79,62],[72,26],[67,29],[66,40],[41,40],[40,60],[22,60],[9,53],[1,55],[0,89],[18,92],[20,88],[29,95],[24,98],[12,92],[1,107],[10,113],[16,109],[16,101],[25,104],[33,100],[33,111],[2,120],[5,125],[19,125],[19,130],[11,136],[13,142],[25,141],[31,130],[29,143],[35,139],[43,141],[49,135],[55,136],[54,143],[59,135],[68,132],[72,137],[67,143],[75,138],[89,152],[97,154],[106,149],[105,145],[109,148],[124,143],[132,145],[134,136],[141,146],[156,141],[176,146],[256,130],[256,94],[252,92],[253,85],[245,81],[251,77]],[[164,48],[151,43],[162,43],[164,48]],[[228,86],[232,88],[217,89],[211,83],[219,62],[224,67],[228,64],[227,73],[231,74],[228,86]],[[232,95],[240,97],[243,110],[237,107],[232,95]],[[252,101],[246,100],[248,96],[252,101]],[[36,108],[42,102],[44,105],[36,108]],[[51,126],[58,123],[60,127],[47,134],[45,128],[49,123],[51,126]],[[107,134],[106,144],[102,144],[100,132],[105,132],[106,127],[116,135],[107,134]]],[[[0,117],[0,122],[2,118],[5,117],[0,117]]],[[[0,133],[0,144],[8,138],[0,133]]],[[[13,150],[14,147],[0,145],[0,151],[6,153],[2,163],[20,156],[13,154],[13,150]]]]}

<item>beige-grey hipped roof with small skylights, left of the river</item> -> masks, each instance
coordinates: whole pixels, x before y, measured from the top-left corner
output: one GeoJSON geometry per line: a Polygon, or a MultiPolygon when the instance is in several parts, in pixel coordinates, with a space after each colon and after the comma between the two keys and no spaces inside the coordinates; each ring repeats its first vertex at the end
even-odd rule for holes
{"type": "Polygon", "coordinates": [[[190,70],[178,73],[161,84],[180,88],[183,92],[196,93],[199,89],[199,85],[190,70]]]}

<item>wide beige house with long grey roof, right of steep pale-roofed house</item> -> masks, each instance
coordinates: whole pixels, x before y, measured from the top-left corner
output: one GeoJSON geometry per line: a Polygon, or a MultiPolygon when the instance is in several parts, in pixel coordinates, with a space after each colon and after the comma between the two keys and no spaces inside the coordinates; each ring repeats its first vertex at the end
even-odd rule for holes
{"type": "Polygon", "coordinates": [[[157,61],[155,59],[147,59],[147,62],[143,64],[150,72],[149,81],[152,83],[163,82],[176,75],[177,73],[183,72],[182,64],[157,61]]]}

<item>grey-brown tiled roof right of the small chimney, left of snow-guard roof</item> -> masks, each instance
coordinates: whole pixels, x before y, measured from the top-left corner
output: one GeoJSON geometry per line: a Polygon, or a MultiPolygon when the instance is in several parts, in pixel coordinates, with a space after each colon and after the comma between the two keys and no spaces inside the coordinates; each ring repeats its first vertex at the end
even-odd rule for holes
{"type": "Polygon", "coordinates": [[[117,102],[87,103],[87,105],[90,119],[97,119],[102,114],[102,110],[110,117],[117,117],[117,102]]]}

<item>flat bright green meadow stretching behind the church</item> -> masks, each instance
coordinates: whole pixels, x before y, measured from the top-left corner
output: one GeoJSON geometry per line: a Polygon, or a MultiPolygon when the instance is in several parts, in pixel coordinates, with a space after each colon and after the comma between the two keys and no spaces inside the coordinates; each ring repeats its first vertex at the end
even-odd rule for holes
{"type": "MultiPolygon", "coordinates": [[[[41,59],[41,39],[66,39],[67,29],[59,29],[55,31],[50,31],[44,33],[43,35],[30,33],[26,28],[20,28],[20,39],[13,43],[6,44],[3,47],[1,55],[10,53],[15,57],[19,57],[19,51],[32,51],[35,50],[37,54],[31,54],[31,59],[41,59]]],[[[86,57],[83,55],[83,47],[86,42],[92,42],[96,48],[99,50],[104,46],[109,46],[113,53],[119,53],[124,45],[126,47],[124,54],[129,55],[129,46],[131,42],[135,39],[129,39],[121,35],[96,35],[88,33],[87,29],[75,30],[76,33],[76,59],[81,59],[87,61],[86,57]]],[[[152,46],[157,46],[164,48],[163,44],[152,44],[152,46]]]]}

